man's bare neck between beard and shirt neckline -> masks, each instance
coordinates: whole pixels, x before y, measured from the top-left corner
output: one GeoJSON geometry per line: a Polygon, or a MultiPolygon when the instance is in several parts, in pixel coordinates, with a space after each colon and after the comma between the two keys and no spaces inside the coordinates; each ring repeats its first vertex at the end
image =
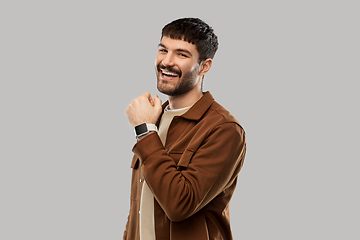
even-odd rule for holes
{"type": "Polygon", "coordinates": [[[201,97],[203,93],[201,90],[192,89],[190,92],[184,93],[179,96],[169,96],[170,109],[186,108],[194,105],[201,97]]]}

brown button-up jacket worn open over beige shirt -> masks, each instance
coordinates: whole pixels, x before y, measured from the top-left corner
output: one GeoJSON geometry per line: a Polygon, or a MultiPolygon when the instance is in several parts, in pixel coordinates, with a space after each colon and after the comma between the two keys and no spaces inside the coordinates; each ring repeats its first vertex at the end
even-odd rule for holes
{"type": "Polygon", "coordinates": [[[232,239],[229,203],[245,151],[243,128],[209,92],[172,120],[165,147],[148,134],[133,148],[124,240],[139,240],[143,179],[155,198],[156,240],[232,239]]]}

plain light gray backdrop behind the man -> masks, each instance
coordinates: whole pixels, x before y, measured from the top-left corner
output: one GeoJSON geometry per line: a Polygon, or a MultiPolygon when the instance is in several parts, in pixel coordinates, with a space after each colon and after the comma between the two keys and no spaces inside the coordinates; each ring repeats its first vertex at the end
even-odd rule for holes
{"type": "Polygon", "coordinates": [[[247,132],[234,238],[360,238],[357,1],[234,2],[1,1],[0,239],[122,238],[125,108],[179,17],[215,29],[204,90],[247,132]]]}

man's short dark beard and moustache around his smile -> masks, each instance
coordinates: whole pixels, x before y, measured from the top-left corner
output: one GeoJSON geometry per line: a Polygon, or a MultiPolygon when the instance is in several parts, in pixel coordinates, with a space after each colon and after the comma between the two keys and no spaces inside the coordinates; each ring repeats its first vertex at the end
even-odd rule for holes
{"type": "Polygon", "coordinates": [[[157,89],[159,92],[168,95],[168,96],[180,96],[190,90],[192,90],[196,85],[196,79],[198,76],[198,68],[183,73],[181,70],[177,70],[173,67],[164,67],[160,64],[156,67],[156,76],[157,76],[157,89]],[[175,80],[163,80],[160,78],[161,69],[167,70],[169,72],[177,73],[179,75],[177,83],[174,85],[175,80]]]}

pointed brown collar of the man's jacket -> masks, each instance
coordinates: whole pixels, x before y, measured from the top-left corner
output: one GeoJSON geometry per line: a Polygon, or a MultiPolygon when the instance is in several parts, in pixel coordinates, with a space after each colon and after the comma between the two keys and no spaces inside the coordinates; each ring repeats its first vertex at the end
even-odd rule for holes
{"type": "MultiPolygon", "coordinates": [[[[198,121],[205,114],[205,112],[209,109],[209,107],[214,101],[215,100],[213,96],[210,94],[209,91],[207,91],[186,113],[181,115],[181,117],[189,120],[198,121]]],[[[168,104],[169,101],[166,101],[163,104],[163,112],[168,104]]]]}

